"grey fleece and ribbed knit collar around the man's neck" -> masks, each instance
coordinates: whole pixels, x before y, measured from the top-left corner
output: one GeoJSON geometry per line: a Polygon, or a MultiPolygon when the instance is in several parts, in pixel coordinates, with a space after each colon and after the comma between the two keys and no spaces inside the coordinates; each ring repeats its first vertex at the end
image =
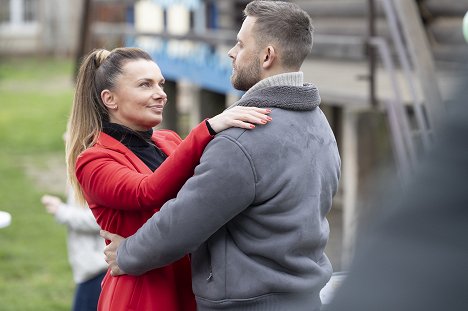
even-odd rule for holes
{"type": "Polygon", "coordinates": [[[320,105],[320,94],[312,84],[304,84],[302,72],[285,73],[255,84],[233,106],[281,108],[311,111],[320,105]]]}

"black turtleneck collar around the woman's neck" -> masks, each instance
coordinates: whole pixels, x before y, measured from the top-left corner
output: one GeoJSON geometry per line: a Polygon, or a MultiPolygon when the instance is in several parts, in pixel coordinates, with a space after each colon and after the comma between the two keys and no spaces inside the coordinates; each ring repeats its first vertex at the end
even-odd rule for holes
{"type": "Polygon", "coordinates": [[[151,141],[153,135],[152,129],[148,131],[135,131],[126,126],[110,122],[104,122],[102,127],[104,133],[112,136],[127,147],[147,147],[148,145],[153,145],[151,141]]]}

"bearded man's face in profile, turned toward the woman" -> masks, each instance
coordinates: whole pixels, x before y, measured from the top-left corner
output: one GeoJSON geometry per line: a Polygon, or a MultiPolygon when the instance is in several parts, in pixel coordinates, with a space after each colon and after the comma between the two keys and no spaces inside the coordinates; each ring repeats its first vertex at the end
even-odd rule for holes
{"type": "Polygon", "coordinates": [[[261,80],[260,51],[255,42],[255,18],[247,16],[237,34],[236,45],[228,52],[232,58],[231,83],[240,91],[247,91],[261,80]]]}

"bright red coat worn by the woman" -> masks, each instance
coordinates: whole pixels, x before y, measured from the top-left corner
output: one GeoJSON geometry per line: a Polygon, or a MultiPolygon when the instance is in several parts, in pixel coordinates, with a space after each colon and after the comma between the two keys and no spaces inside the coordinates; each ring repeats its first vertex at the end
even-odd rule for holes
{"type": "MultiPolygon", "coordinates": [[[[183,141],[168,130],[155,131],[152,140],[170,155],[154,173],[105,133],[78,157],[76,176],[102,229],[134,234],[193,175],[211,135],[203,122],[183,141]]],[[[112,277],[108,271],[98,309],[196,310],[189,257],[141,276],[112,277]]]]}

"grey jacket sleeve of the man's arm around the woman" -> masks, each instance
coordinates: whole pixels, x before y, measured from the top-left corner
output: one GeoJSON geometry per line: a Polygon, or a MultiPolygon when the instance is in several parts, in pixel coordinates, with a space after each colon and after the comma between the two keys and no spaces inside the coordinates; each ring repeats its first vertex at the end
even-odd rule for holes
{"type": "Polygon", "coordinates": [[[217,136],[177,197],[118,249],[117,262],[139,275],[197,249],[255,197],[255,170],[237,141],[217,136]]]}

